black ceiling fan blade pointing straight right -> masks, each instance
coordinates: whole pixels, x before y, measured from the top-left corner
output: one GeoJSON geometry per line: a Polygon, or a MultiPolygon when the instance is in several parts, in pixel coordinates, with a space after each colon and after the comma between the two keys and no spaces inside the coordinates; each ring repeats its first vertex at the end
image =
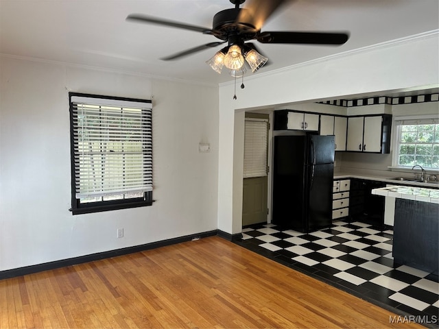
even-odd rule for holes
{"type": "Polygon", "coordinates": [[[332,32],[262,32],[257,40],[262,43],[292,43],[311,45],[343,45],[347,33],[332,32]]]}

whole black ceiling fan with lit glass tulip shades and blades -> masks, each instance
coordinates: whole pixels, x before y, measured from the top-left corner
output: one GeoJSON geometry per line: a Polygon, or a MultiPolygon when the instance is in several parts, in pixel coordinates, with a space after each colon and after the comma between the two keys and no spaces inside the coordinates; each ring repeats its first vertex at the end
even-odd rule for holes
{"type": "MultiPolygon", "coordinates": [[[[261,52],[249,40],[257,40],[268,44],[309,44],[309,45],[342,45],[348,40],[346,33],[334,32],[262,32],[261,28],[270,15],[291,0],[248,0],[245,8],[239,5],[246,0],[230,0],[235,8],[230,8],[217,12],[213,16],[213,27],[200,27],[187,23],[168,21],[153,16],[143,14],[130,14],[129,21],[140,21],[187,29],[202,34],[211,34],[220,41],[209,42],[185,51],[180,51],[174,55],[161,58],[162,60],[176,60],[184,56],[191,55],[207,48],[217,47],[228,42],[228,45],[217,51],[215,56],[208,60],[213,70],[221,73],[224,66],[230,70],[234,77],[241,77],[246,72],[246,62],[252,72],[256,72],[268,62],[268,58],[261,55],[261,52]]],[[[244,88],[244,84],[241,85],[244,88]]]]}

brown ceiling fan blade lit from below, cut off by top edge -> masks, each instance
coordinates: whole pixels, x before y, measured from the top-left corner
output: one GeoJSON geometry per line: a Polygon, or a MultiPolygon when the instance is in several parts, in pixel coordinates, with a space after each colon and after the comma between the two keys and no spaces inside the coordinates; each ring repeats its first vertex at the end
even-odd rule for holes
{"type": "Polygon", "coordinates": [[[250,23],[256,29],[261,29],[263,23],[283,3],[292,0],[247,0],[244,10],[238,15],[237,23],[250,23]]]}

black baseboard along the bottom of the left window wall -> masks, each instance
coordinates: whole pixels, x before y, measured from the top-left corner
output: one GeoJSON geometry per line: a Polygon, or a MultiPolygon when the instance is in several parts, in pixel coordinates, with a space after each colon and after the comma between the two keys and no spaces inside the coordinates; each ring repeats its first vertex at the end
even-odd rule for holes
{"type": "MultiPolygon", "coordinates": [[[[226,234],[226,233],[224,232],[224,234],[226,234]]],[[[206,238],[207,236],[215,236],[215,235],[222,236],[222,234],[219,234],[219,230],[213,230],[213,231],[202,232],[202,233],[198,233],[198,234],[190,234],[190,235],[186,235],[186,236],[180,236],[180,237],[174,238],[174,239],[167,239],[167,240],[163,240],[163,241],[145,243],[144,245],[135,245],[133,247],[126,247],[126,248],[121,248],[121,249],[110,250],[108,252],[98,252],[96,254],[89,254],[89,255],[79,256],[79,257],[74,257],[74,258],[55,260],[54,262],[49,262],[49,263],[30,265],[30,266],[26,266],[26,267],[19,267],[16,269],[7,269],[5,271],[0,271],[0,280],[14,278],[16,276],[25,276],[27,274],[47,271],[49,269],[58,269],[60,267],[67,267],[67,266],[71,266],[71,265],[88,263],[88,262],[92,262],[93,260],[101,260],[104,258],[122,256],[122,255],[126,255],[126,254],[132,254],[134,252],[143,252],[143,251],[149,250],[149,249],[165,247],[167,245],[175,245],[177,243],[191,241],[194,239],[202,239],[202,238],[206,238]]],[[[229,235],[232,236],[231,234],[229,234],[229,235]]],[[[222,236],[222,237],[224,237],[224,236],[222,236]]]]}

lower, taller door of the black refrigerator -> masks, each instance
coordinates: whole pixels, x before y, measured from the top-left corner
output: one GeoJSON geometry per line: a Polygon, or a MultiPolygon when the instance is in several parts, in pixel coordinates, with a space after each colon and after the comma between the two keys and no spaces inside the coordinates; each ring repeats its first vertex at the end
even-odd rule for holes
{"type": "Polygon", "coordinates": [[[332,163],[308,166],[307,229],[317,230],[332,223],[332,163]]]}

